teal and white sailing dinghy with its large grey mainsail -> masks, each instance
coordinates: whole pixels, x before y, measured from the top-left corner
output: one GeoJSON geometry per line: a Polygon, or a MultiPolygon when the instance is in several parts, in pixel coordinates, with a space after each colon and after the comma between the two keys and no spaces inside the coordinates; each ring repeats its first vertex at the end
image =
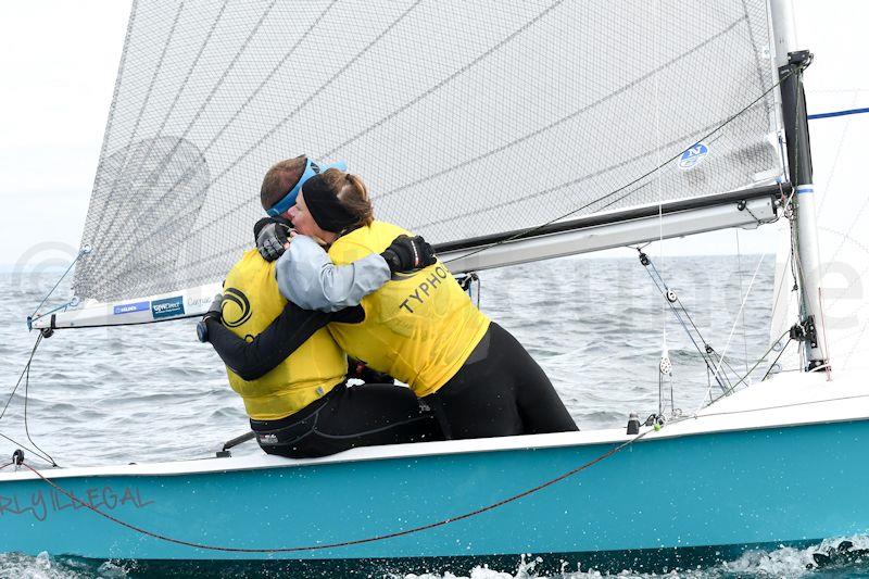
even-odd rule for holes
{"type": "MultiPolygon", "coordinates": [[[[425,235],[454,274],[786,224],[777,279],[797,291],[783,290],[772,349],[796,342],[799,372],[765,372],[744,388],[698,343],[720,395],[627,431],[306,461],[227,452],[40,469],[18,456],[15,471],[0,471],[5,549],[599,564],[627,554],[671,565],[867,532],[869,390],[865,374],[830,363],[802,87],[811,55],[796,50],[789,10],[783,0],[137,2],[76,298],[35,316],[45,336],[204,313],[250,247],[264,168],[307,151],[348,159],[379,216],[425,235]],[[664,464],[655,484],[638,480],[664,464]]],[[[681,315],[678,295],[663,294],[681,315]]],[[[855,361],[862,333],[851,337],[855,361]]]]}

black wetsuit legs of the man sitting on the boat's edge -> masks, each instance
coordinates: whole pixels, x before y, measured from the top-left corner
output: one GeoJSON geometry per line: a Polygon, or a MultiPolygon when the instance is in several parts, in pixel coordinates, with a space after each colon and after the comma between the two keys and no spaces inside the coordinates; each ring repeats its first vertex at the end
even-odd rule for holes
{"type": "Polygon", "coordinates": [[[339,385],[279,420],[251,419],[260,446],[293,458],[327,456],[355,446],[443,440],[439,423],[416,395],[393,385],[339,385]]]}

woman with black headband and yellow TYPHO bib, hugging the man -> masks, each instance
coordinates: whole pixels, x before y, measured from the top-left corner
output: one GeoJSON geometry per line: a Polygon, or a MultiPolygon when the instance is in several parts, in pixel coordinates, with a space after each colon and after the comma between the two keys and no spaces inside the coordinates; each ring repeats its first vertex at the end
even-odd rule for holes
{"type": "Polygon", "coordinates": [[[278,260],[281,293],[323,311],[358,303],[356,319],[332,320],[329,331],[348,354],[407,383],[434,410],[448,438],[577,430],[540,366],[474,306],[442,263],[393,275],[364,297],[352,287],[338,295],[324,289],[329,267],[380,253],[407,234],[373,213],[357,176],[331,168],[307,180],[289,211],[300,235],[278,260]],[[308,238],[325,242],[328,255],[308,238]]]}

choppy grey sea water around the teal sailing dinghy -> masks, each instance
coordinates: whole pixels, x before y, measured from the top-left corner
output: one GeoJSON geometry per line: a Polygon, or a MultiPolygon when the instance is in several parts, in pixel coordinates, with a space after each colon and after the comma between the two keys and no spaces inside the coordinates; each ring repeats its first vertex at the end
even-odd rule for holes
{"type": "MultiPolygon", "coordinates": [[[[726,352],[733,376],[745,375],[767,353],[774,285],[771,255],[666,257],[654,263],[703,338],[717,352],[726,352]]],[[[211,347],[196,340],[191,319],[59,330],[40,343],[29,379],[10,398],[36,341],[25,318],[59,275],[0,274],[4,295],[0,301],[0,408],[9,401],[0,433],[18,444],[38,446],[62,466],[72,466],[205,457],[248,430],[240,399],[229,389],[211,347]]],[[[479,297],[482,311],[513,332],[543,366],[582,429],[624,427],[629,413],[641,418],[657,413],[662,391],[665,410],[683,413],[696,411],[709,395],[720,393],[715,382],[710,386],[701,354],[668,311],[646,268],[628,250],[625,259],[568,257],[483,272],[480,277],[479,295],[475,284],[473,299],[479,297]],[[660,380],[658,365],[665,352],[672,362],[672,377],[660,380]]],[[[63,303],[70,294],[65,279],[42,310],[63,303]]],[[[770,353],[747,381],[761,379],[774,355],[770,353]]],[[[0,465],[16,448],[0,439],[0,465]]],[[[234,450],[237,455],[259,452],[251,442],[234,450]]],[[[32,454],[28,457],[38,461],[32,454]]],[[[802,550],[751,552],[715,567],[665,576],[869,576],[869,562],[806,570],[811,554],[837,539],[802,550]]],[[[851,539],[857,546],[869,547],[866,538],[851,539]]],[[[602,577],[594,570],[567,567],[554,576],[551,570],[541,572],[534,555],[498,568],[470,565],[429,571],[408,563],[399,574],[375,576],[602,577]]],[[[272,575],[256,568],[245,572],[272,575]]],[[[291,569],[277,575],[297,576],[291,569]]],[[[0,578],[136,576],[140,572],[129,564],[0,554],[0,578]]],[[[631,569],[617,576],[651,577],[631,569]]]]}

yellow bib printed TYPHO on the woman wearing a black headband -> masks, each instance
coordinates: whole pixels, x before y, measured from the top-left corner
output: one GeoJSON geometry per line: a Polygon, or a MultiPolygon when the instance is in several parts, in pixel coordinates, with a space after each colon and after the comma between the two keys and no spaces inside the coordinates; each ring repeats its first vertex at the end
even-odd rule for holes
{"type": "MultiPolygon", "coordinates": [[[[401,227],[374,222],[339,238],[329,257],[344,265],[386,250],[401,227]]],[[[362,300],[360,324],[329,324],[329,331],[353,357],[385,372],[425,397],[446,383],[489,329],[453,275],[438,262],[411,275],[394,275],[362,300]]]]}

